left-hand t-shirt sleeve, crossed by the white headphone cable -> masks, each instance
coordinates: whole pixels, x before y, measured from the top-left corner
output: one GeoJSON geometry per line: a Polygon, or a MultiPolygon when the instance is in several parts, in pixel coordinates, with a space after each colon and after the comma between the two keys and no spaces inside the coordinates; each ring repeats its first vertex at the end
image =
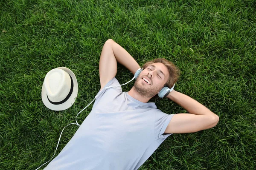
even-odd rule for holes
{"type": "Polygon", "coordinates": [[[98,92],[98,94],[96,95],[96,100],[99,100],[103,94],[119,94],[122,93],[122,88],[120,86],[120,83],[118,82],[118,80],[116,79],[116,77],[113,77],[113,79],[111,79],[105,86],[104,88],[102,88],[102,90],[100,90],[98,92]],[[116,86],[113,88],[106,88],[108,86],[116,86]]]}

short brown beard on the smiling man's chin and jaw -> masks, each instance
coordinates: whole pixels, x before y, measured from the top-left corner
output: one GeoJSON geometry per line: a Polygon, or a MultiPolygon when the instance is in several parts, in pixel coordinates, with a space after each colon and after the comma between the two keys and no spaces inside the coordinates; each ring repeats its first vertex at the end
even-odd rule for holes
{"type": "Polygon", "coordinates": [[[137,93],[139,93],[141,96],[152,98],[160,91],[160,88],[152,86],[147,87],[147,85],[142,85],[142,82],[140,82],[140,80],[141,77],[138,77],[136,79],[134,83],[134,90],[137,91],[137,93]]]}

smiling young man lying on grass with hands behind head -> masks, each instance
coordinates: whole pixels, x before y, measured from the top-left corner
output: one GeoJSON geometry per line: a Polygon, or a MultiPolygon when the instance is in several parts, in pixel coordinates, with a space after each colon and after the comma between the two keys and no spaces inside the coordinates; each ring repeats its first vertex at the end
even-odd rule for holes
{"type": "Polygon", "coordinates": [[[172,86],[178,69],[166,59],[143,66],[129,92],[122,92],[117,62],[133,74],[138,63],[113,40],[105,42],[100,61],[99,91],[91,113],[48,170],[137,170],[172,133],[192,133],[214,127],[219,117],[194,99],[172,90],[167,98],[188,113],[166,114],[148,102],[164,87],[172,86]]]}

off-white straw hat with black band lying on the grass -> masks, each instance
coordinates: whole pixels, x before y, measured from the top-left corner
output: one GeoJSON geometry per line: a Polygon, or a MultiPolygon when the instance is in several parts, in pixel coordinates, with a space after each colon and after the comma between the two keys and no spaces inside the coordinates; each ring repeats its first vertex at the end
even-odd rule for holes
{"type": "Polygon", "coordinates": [[[49,71],[42,87],[44,105],[53,111],[70,108],[76,100],[78,83],[75,74],[66,67],[49,71]]]}

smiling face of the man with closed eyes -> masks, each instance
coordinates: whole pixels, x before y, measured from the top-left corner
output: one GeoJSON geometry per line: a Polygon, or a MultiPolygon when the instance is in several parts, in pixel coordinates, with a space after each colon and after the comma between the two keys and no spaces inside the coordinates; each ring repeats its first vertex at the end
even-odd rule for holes
{"type": "Polygon", "coordinates": [[[151,98],[159,93],[168,79],[168,68],[163,63],[156,62],[141,71],[134,88],[140,95],[151,98]]]}

